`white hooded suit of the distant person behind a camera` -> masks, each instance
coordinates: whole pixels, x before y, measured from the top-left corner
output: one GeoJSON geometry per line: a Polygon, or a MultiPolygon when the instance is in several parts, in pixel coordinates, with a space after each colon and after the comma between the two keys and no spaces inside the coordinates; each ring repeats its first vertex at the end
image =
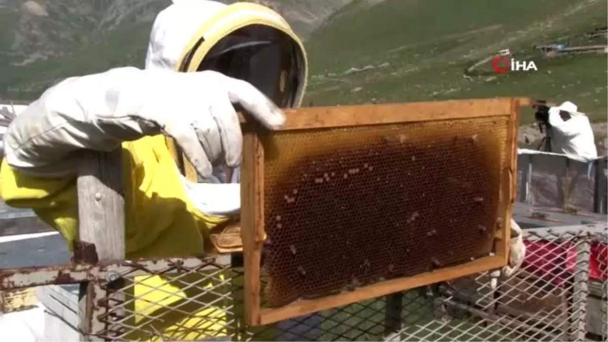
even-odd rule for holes
{"type": "Polygon", "coordinates": [[[589,160],[598,157],[589,117],[579,113],[574,103],[566,101],[551,107],[549,124],[552,152],[589,160]]]}

